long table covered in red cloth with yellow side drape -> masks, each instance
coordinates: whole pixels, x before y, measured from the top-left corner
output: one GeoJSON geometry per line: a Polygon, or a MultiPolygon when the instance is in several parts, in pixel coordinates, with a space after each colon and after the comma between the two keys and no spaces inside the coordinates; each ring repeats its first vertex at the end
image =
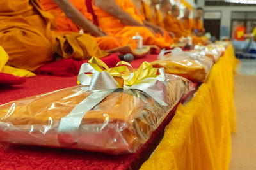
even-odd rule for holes
{"type": "MultiPolygon", "coordinates": [[[[137,67],[143,60],[156,58],[148,55],[131,64],[137,67]]],[[[141,169],[228,169],[230,134],[235,131],[234,59],[230,46],[193,99],[186,106],[179,105],[175,115],[170,114],[174,117],[165,122],[164,137],[157,148],[157,140],[152,140],[138,153],[113,156],[0,143],[0,169],[137,169],[143,162],[141,169]]],[[[22,86],[1,88],[0,103],[72,85],[76,85],[76,77],[36,76],[22,86]]],[[[152,138],[161,139],[162,127],[152,138]]]]}

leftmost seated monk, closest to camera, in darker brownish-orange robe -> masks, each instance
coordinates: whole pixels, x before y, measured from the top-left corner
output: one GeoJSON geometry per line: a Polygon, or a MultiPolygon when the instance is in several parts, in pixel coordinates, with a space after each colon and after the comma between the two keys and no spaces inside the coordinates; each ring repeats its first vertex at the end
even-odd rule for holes
{"type": "Polygon", "coordinates": [[[92,36],[54,34],[53,19],[38,0],[0,1],[0,42],[10,57],[9,66],[35,71],[51,62],[54,53],[76,59],[107,55],[92,36]]]}

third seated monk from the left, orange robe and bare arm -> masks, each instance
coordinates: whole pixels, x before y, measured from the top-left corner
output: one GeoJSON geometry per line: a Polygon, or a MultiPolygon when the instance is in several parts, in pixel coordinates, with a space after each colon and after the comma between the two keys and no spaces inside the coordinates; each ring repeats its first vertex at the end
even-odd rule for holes
{"type": "Polygon", "coordinates": [[[169,47],[172,38],[167,32],[156,27],[145,27],[143,18],[138,15],[134,4],[130,0],[94,0],[93,10],[97,15],[99,27],[109,36],[132,38],[136,33],[143,37],[144,45],[156,45],[159,48],[169,47]],[[153,32],[157,32],[154,35],[153,32]]]}

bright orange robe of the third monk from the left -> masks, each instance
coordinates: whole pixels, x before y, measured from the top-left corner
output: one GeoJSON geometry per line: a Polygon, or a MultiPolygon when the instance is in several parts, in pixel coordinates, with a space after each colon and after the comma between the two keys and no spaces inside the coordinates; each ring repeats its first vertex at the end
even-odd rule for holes
{"type": "MultiPolygon", "coordinates": [[[[131,38],[136,35],[138,32],[143,37],[144,45],[156,45],[159,48],[165,48],[170,46],[172,43],[172,38],[167,34],[156,36],[145,27],[132,27],[122,24],[120,20],[109,15],[106,11],[94,5],[93,1],[93,10],[95,15],[98,17],[99,27],[103,29],[109,36],[117,37],[127,37],[131,38]]],[[[130,0],[116,0],[116,4],[122,8],[122,10],[129,13],[135,20],[143,24],[143,17],[138,15],[134,4],[130,0]]]]}

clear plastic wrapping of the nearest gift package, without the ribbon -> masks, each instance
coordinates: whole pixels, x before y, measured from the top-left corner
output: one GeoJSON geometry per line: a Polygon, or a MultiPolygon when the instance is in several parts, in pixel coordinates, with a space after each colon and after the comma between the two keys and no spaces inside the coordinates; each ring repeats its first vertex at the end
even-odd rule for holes
{"type": "Polygon", "coordinates": [[[3,104],[0,141],[110,154],[136,152],[191,88],[191,82],[179,76],[166,74],[166,82],[167,106],[141,90],[116,89],[84,115],[72,134],[58,127],[61,118],[92,94],[83,85],[3,104]]]}

